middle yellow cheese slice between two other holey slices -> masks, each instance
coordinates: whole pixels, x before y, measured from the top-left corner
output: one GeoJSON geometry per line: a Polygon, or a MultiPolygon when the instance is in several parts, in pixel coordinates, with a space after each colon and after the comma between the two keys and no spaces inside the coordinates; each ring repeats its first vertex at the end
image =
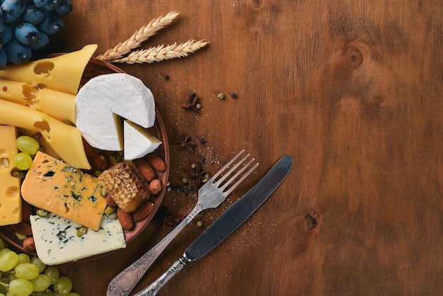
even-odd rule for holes
{"type": "Polygon", "coordinates": [[[53,118],[75,123],[76,96],[52,89],[39,89],[26,82],[0,79],[0,98],[35,108],[53,118]]]}

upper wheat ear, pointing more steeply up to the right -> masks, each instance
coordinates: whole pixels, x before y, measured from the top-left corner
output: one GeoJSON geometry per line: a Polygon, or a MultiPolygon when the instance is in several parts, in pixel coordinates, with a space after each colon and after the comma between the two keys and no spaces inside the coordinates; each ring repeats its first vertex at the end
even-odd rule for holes
{"type": "Polygon", "coordinates": [[[157,31],[166,27],[166,25],[171,24],[176,16],[178,16],[178,12],[171,11],[166,14],[166,16],[154,18],[147,25],[144,25],[142,28],[135,31],[135,33],[125,42],[120,42],[115,45],[115,47],[107,50],[103,55],[98,55],[97,59],[108,62],[113,59],[120,59],[134,48],[139,47],[142,42],[146,41],[149,37],[155,35],[157,31]]]}

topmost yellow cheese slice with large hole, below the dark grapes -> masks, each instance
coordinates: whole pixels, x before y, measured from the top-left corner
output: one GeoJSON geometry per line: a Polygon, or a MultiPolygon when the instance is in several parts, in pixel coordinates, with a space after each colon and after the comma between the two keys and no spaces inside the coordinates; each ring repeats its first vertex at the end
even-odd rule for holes
{"type": "Polygon", "coordinates": [[[81,50],[57,57],[38,59],[24,64],[10,64],[0,70],[0,78],[27,82],[41,89],[48,88],[75,95],[81,76],[97,45],[90,44],[81,50]]]}

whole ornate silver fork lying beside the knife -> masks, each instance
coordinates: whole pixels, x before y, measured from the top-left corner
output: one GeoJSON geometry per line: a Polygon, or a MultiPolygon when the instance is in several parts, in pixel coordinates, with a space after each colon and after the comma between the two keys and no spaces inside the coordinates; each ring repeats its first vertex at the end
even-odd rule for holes
{"type": "Polygon", "coordinates": [[[185,228],[185,226],[202,210],[218,207],[228,196],[232,190],[234,190],[238,184],[240,184],[253,170],[258,166],[258,163],[254,164],[250,169],[248,169],[255,159],[251,159],[248,163],[244,164],[241,169],[236,171],[241,164],[243,164],[246,159],[248,159],[249,154],[243,156],[234,166],[229,169],[229,166],[238,159],[245,150],[239,152],[233,159],[231,159],[225,166],[222,167],[217,173],[209,178],[209,180],[198,190],[198,200],[197,205],[189,213],[188,217],[180,222],[176,228],[174,228],[166,237],[159,241],[156,246],[149,250],[146,254],[140,257],[137,261],[132,263],[131,266],[126,268],[124,271],[119,273],[113,280],[110,281],[108,285],[108,290],[106,291],[107,296],[126,296],[134,289],[135,285],[142,278],[144,273],[148,268],[154,263],[156,258],[159,257],[161,252],[166,249],[166,246],[177,236],[177,234],[185,228]],[[224,171],[229,169],[229,171],[224,171]],[[248,171],[246,171],[248,169],[248,171]],[[234,173],[234,171],[236,171],[234,173]],[[246,171],[245,173],[243,173],[246,171]],[[234,173],[232,175],[232,173],[234,173]],[[243,173],[243,174],[242,174],[243,173]],[[232,176],[231,176],[232,175],[232,176]],[[221,176],[221,177],[220,177],[221,176]],[[229,180],[226,180],[226,178],[229,180]],[[219,178],[220,177],[220,178],[219,178]],[[236,183],[232,184],[234,181],[236,183]]]}

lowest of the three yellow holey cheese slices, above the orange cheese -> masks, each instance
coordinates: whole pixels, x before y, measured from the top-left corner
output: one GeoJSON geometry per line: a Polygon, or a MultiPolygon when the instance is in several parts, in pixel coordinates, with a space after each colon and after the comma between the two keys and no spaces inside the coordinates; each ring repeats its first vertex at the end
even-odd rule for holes
{"type": "Polygon", "coordinates": [[[0,100],[0,124],[41,132],[45,144],[57,156],[77,169],[91,169],[84,151],[81,132],[50,115],[16,103],[0,100]]]}

